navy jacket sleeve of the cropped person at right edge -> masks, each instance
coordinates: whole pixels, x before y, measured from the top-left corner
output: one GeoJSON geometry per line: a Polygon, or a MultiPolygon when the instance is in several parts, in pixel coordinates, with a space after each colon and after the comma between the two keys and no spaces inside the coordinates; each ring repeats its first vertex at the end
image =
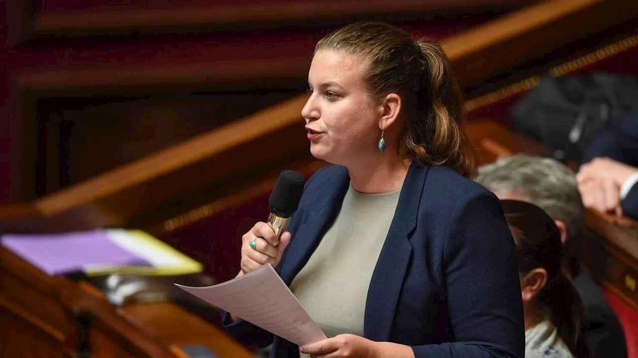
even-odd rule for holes
{"type": "MultiPolygon", "coordinates": [[[[609,157],[621,163],[638,167],[638,111],[618,118],[614,124],[598,133],[590,143],[581,163],[595,157],[609,157]]],[[[638,185],[634,185],[620,203],[623,213],[638,218],[638,185]]]]}

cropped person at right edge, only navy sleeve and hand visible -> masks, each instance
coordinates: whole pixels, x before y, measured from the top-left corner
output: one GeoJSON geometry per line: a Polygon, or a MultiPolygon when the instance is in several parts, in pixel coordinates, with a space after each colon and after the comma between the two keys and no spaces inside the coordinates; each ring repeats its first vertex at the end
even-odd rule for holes
{"type": "Polygon", "coordinates": [[[638,112],[598,133],[581,163],[577,180],[586,207],[638,218],[638,112]]]}

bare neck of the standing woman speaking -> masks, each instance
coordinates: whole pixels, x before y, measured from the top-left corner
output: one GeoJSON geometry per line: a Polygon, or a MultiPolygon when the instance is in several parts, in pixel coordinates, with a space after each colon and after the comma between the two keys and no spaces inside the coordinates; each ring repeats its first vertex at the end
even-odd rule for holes
{"type": "Polygon", "coordinates": [[[348,166],[353,189],[358,192],[378,194],[401,189],[410,168],[410,161],[382,156],[377,161],[360,161],[348,166]]]}

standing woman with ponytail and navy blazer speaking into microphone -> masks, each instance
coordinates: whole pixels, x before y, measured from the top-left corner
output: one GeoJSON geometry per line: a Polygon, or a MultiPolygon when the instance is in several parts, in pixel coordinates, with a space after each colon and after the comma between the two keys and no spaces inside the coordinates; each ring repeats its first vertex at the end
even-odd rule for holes
{"type": "Polygon", "coordinates": [[[336,165],[306,183],[280,240],[263,222],[244,234],[239,275],[275,266],[329,338],[297,347],[230,315],[226,330],[273,343],[271,357],[522,356],[514,241],[468,179],[475,152],[441,48],[348,25],[316,45],[308,82],[311,153],[336,165]]]}

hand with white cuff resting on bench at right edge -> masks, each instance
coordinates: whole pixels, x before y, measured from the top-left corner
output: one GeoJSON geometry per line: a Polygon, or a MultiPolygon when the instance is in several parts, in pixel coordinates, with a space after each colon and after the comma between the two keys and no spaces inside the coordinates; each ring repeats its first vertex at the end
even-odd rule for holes
{"type": "Polygon", "coordinates": [[[616,215],[622,216],[620,186],[615,180],[609,178],[579,180],[578,190],[581,192],[582,204],[586,208],[603,212],[615,211],[616,215]]]}

